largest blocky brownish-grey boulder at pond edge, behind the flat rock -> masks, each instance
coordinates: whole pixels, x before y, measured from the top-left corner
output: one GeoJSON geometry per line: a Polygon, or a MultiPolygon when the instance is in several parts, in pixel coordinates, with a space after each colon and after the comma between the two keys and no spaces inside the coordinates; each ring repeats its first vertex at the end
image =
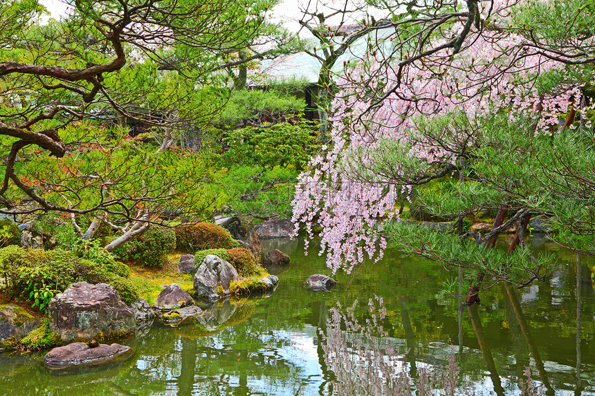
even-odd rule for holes
{"type": "Polygon", "coordinates": [[[49,304],[49,322],[62,341],[110,339],[134,332],[134,311],[105,283],[73,283],[49,304]]]}

